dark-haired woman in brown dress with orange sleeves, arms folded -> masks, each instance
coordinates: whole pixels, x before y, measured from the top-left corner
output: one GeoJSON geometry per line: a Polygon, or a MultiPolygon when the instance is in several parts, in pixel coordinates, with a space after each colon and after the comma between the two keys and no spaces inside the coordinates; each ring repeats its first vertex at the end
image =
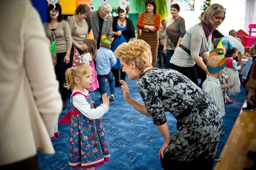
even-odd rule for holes
{"type": "Polygon", "coordinates": [[[161,23],[161,15],[156,13],[156,3],[154,0],[147,0],[145,4],[146,12],[140,14],[137,27],[142,30],[140,39],[146,41],[151,47],[152,65],[156,67],[157,49],[159,45],[158,32],[161,23]]]}

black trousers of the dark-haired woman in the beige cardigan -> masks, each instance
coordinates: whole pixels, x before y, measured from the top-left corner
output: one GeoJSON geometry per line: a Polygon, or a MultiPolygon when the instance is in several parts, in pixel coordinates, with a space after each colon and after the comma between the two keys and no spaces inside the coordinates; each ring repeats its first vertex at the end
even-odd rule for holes
{"type": "Polygon", "coordinates": [[[61,95],[62,101],[64,102],[67,101],[67,88],[64,87],[64,82],[66,82],[65,72],[67,70],[67,66],[63,62],[65,55],[66,55],[66,52],[57,53],[57,64],[54,67],[55,74],[60,85],[60,95],[61,95]]]}

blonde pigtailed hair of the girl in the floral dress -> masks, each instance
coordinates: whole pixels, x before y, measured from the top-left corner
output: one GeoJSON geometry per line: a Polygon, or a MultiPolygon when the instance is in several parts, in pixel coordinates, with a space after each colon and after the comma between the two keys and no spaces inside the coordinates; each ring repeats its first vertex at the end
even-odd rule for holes
{"type": "Polygon", "coordinates": [[[64,87],[73,90],[75,86],[75,78],[78,77],[79,80],[81,80],[84,75],[87,75],[90,72],[92,72],[92,67],[87,64],[68,68],[65,73],[65,78],[67,82],[65,83],[64,87]]]}

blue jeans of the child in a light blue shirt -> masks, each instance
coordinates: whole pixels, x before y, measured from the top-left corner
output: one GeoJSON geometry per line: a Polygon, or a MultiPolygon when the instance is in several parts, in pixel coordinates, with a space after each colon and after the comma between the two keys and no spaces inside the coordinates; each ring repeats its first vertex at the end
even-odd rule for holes
{"type": "Polygon", "coordinates": [[[97,75],[98,81],[99,81],[99,86],[100,86],[100,95],[104,94],[106,89],[105,89],[105,77],[108,79],[109,87],[110,87],[110,92],[111,94],[115,94],[115,88],[114,88],[114,79],[113,79],[113,74],[111,71],[107,75],[97,75]]]}

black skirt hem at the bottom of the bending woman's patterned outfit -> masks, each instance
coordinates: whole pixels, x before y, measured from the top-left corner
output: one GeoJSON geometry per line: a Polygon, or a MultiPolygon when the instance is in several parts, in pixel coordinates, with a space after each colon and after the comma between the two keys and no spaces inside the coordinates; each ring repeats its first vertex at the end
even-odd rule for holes
{"type": "Polygon", "coordinates": [[[197,159],[190,162],[161,158],[161,166],[164,170],[212,170],[214,159],[197,159]]]}

